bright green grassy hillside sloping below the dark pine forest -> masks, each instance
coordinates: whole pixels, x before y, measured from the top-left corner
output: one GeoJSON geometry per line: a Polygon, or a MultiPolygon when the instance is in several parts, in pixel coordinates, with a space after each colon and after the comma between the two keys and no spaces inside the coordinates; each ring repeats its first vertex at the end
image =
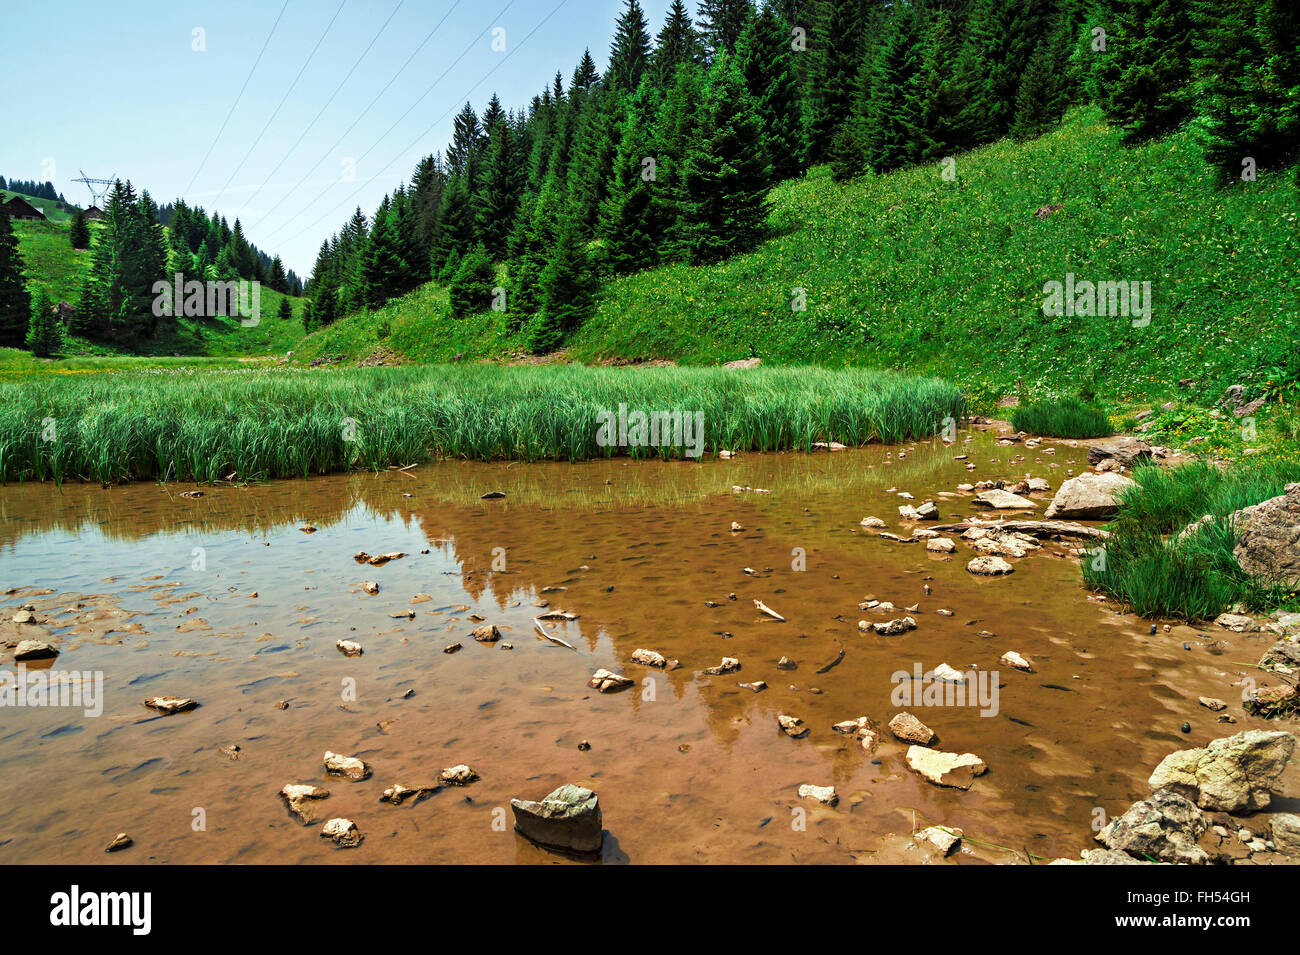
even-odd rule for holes
{"type": "MultiPolygon", "coordinates": [[[[568,356],[907,368],[976,398],[1078,388],[1123,401],[1179,378],[1262,381],[1295,348],[1297,214],[1292,179],[1216,190],[1191,134],[1123,148],[1084,108],[1041,139],[959,156],[956,182],[924,166],[784,183],[766,243],[608,283],[568,356]],[[1063,208],[1036,218],[1048,204],[1063,208]],[[1043,286],[1067,272],[1150,282],[1150,324],[1045,317],[1043,286]],[[806,311],[792,309],[796,288],[806,311]]],[[[523,351],[500,316],[451,320],[426,286],[300,352],[360,357],[381,342],[416,360],[523,351]]]]}

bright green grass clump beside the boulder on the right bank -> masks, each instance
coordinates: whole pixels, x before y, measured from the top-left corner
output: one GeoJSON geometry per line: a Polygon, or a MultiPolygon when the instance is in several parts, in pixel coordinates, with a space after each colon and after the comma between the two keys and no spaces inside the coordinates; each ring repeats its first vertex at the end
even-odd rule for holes
{"type": "Polygon", "coordinates": [[[1294,587],[1247,574],[1232,556],[1232,513],[1300,479],[1300,461],[1196,461],[1148,465],[1119,496],[1105,546],[1083,561],[1084,582],[1143,616],[1204,620],[1234,604],[1252,611],[1295,608],[1294,587]],[[1188,525],[1209,517],[1195,530],[1188,525]]]}

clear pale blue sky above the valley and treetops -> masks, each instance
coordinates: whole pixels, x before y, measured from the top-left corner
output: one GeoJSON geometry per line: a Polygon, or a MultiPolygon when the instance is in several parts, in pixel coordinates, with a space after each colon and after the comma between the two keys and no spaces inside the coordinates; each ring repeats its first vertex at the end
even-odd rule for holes
{"type": "MultiPolygon", "coordinates": [[[[651,36],[668,3],[641,0],[651,36]]],[[[81,205],[90,194],[73,182],[79,170],[129,178],[160,204],[179,196],[231,225],[240,218],[252,243],[306,278],[321,239],[354,207],[369,214],[421,156],[446,147],[467,100],[481,113],[495,91],[507,109],[524,107],[556,69],[567,82],[586,47],[603,69],[623,5],[14,4],[5,9],[0,57],[0,175],[51,179],[81,205]],[[494,27],[504,29],[504,52],[493,49],[494,27]]]]}

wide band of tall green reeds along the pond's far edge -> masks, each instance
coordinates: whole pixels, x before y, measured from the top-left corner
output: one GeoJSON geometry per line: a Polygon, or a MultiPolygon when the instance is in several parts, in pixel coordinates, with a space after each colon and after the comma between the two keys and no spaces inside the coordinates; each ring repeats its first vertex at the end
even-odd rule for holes
{"type": "Polygon", "coordinates": [[[173,369],[0,383],[0,479],[212,482],[436,457],[682,457],[604,447],[598,413],[703,414],[702,450],[893,443],[961,418],[937,378],[866,369],[400,366],[173,369]]]}

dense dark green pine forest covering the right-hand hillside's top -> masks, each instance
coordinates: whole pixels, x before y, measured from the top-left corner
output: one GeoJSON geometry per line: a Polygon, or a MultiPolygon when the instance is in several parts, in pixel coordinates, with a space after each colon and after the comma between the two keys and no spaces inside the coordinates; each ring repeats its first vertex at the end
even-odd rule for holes
{"type": "Polygon", "coordinates": [[[602,278],[707,262],[763,236],[777,181],[837,179],[1027,139],[1096,101],[1136,140],[1196,120],[1228,177],[1296,160],[1288,0],[624,0],[604,74],[585,52],[526,108],[465,104],[445,152],[321,243],[308,330],[434,279],[552,348],[602,278]]]}

